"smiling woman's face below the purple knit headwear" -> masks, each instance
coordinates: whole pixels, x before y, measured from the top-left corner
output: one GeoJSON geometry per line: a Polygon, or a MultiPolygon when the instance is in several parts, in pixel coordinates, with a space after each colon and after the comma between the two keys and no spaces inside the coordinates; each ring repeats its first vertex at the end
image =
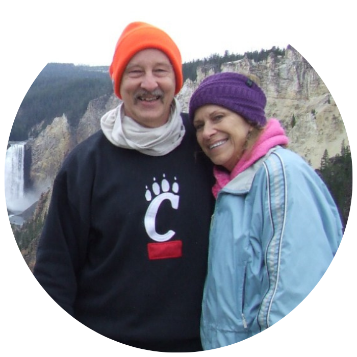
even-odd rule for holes
{"type": "Polygon", "coordinates": [[[211,104],[196,110],[193,125],[203,152],[214,164],[232,171],[243,155],[252,125],[239,114],[211,104]]]}

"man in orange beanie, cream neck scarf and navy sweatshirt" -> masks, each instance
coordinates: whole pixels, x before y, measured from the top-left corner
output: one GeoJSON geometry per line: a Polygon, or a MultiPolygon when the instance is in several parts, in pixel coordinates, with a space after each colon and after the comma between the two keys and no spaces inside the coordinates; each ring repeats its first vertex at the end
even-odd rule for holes
{"type": "Polygon", "coordinates": [[[213,196],[211,167],[174,98],[181,55],[165,32],[134,22],[110,74],[123,103],[63,163],[34,275],[107,338],[197,352],[213,196]]]}

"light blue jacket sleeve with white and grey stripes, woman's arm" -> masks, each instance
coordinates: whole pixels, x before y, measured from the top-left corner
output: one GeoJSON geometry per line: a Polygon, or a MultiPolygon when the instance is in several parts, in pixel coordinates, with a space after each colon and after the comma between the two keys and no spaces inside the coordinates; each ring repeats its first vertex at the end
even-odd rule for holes
{"type": "Polygon", "coordinates": [[[272,154],[264,167],[261,330],[284,318],[310,294],[342,240],[334,200],[308,164],[272,154]]]}

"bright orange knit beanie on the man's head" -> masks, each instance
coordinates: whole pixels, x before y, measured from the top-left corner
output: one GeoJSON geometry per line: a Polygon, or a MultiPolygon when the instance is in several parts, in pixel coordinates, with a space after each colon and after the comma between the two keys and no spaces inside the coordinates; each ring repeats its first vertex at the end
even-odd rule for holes
{"type": "Polygon", "coordinates": [[[120,83],[126,65],[139,51],[147,48],[160,49],[169,58],[175,72],[176,89],[183,85],[182,60],[179,48],[164,31],[145,22],[132,22],[126,26],[115,47],[113,62],[109,67],[114,82],[114,92],[121,99],[120,83]]]}

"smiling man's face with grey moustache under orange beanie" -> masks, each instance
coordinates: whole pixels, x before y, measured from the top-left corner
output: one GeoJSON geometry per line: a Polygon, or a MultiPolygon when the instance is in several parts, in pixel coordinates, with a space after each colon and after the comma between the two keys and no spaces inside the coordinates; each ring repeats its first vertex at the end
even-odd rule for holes
{"type": "Polygon", "coordinates": [[[175,73],[163,52],[151,48],[138,52],[120,84],[125,115],[146,127],[162,126],[170,115],[175,84],[175,73]]]}

